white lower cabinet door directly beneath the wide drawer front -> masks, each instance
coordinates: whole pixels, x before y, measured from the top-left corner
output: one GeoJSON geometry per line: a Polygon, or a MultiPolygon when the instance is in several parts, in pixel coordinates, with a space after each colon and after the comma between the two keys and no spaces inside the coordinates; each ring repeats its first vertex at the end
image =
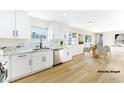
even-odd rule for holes
{"type": "Polygon", "coordinates": [[[31,59],[12,60],[11,78],[18,78],[31,72],[31,59]]]}

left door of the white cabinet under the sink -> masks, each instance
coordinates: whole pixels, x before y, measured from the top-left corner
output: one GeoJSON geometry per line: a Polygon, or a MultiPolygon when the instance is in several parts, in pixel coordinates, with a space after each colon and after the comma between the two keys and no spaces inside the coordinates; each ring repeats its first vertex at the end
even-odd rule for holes
{"type": "Polygon", "coordinates": [[[43,56],[34,56],[32,57],[32,71],[37,71],[43,69],[43,56]]]}

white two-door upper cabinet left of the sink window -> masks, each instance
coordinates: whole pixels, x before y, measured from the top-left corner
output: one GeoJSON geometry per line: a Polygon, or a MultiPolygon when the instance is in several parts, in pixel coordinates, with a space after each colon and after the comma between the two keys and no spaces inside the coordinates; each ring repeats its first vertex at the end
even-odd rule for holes
{"type": "Polygon", "coordinates": [[[27,39],[28,16],[24,11],[0,11],[0,38],[27,39]]]}

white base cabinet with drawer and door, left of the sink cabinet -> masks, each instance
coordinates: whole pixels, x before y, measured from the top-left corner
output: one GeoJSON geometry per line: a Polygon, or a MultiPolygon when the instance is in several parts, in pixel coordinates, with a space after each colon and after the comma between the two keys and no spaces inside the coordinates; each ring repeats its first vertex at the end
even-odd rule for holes
{"type": "Polygon", "coordinates": [[[11,57],[10,79],[23,77],[31,73],[31,53],[17,54],[11,57]]]}

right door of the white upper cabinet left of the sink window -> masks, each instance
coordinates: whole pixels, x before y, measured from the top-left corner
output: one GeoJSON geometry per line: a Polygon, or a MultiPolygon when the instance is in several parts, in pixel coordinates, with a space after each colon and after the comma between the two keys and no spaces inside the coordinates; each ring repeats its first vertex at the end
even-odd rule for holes
{"type": "Polygon", "coordinates": [[[28,16],[25,11],[16,11],[16,37],[28,38],[28,16]]]}

